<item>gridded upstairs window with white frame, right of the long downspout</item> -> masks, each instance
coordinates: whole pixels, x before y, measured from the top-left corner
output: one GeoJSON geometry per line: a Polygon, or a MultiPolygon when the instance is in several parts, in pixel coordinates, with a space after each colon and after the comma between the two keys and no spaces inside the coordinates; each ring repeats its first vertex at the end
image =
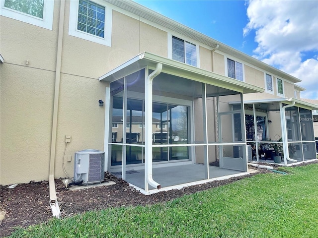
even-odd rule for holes
{"type": "Polygon", "coordinates": [[[103,0],[72,0],[69,34],[111,46],[112,9],[103,0]]]}

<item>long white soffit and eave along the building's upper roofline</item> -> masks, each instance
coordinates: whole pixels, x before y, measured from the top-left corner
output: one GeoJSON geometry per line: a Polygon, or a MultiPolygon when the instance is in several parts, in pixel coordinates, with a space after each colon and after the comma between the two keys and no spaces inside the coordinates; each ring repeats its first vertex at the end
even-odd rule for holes
{"type": "Polygon", "coordinates": [[[163,26],[171,31],[174,31],[176,33],[179,33],[183,36],[186,36],[188,38],[191,38],[195,41],[198,41],[206,46],[209,46],[211,48],[215,48],[217,44],[219,44],[219,48],[218,50],[220,50],[221,52],[224,52],[228,55],[234,56],[240,60],[243,60],[245,62],[248,62],[252,65],[255,65],[259,68],[262,68],[268,72],[271,72],[273,74],[275,74],[278,77],[282,77],[284,79],[288,79],[294,83],[296,82],[301,82],[302,80],[288,74],[285,73],[275,67],[272,67],[260,60],[256,60],[253,57],[250,57],[230,46],[227,46],[213,38],[210,38],[198,31],[195,31],[185,25],[182,25],[168,17],[165,17],[161,14],[159,14],[158,12],[155,12],[145,6],[142,6],[140,4],[138,4],[137,2],[134,2],[132,0],[104,0],[107,1],[121,9],[124,9],[128,12],[131,12],[135,15],[138,15],[148,21],[154,22],[160,26],[163,26]]]}

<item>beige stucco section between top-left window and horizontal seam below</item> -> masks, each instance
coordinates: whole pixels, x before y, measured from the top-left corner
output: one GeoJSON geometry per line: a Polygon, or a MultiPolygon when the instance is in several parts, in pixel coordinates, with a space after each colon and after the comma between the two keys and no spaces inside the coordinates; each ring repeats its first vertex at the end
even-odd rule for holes
{"type": "MultiPolygon", "coordinates": [[[[55,23],[56,21],[54,21],[55,23]]],[[[6,63],[55,70],[56,24],[53,31],[0,16],[0,49],[6,63]]]]}

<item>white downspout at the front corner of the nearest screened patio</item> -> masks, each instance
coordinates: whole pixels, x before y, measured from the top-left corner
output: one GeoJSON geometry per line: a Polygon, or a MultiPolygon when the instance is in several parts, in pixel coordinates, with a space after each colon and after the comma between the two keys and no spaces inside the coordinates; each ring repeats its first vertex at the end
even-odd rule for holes
{"type": "Polygon", "coordinates": [[[162,63],[157,63],[157,67],[146,79],[146,110],[145,110],[145,191],[148,192],[148,184],[161,188],[161,185],[153,179],[153,80],[162,70],[162,63]]]}

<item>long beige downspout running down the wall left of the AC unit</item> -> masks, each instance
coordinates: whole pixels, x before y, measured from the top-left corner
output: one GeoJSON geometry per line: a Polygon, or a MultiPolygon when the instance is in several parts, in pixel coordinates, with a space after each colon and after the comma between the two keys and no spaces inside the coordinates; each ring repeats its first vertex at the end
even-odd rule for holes
{"type": "Polygon", "coordinates": [[[55,190],[54,165],[55,165],[56,131],[57,131],[58,106],[59,106],[60,81],[61,81],[64,9],[65,9],[65,0],[61,0],[58,45],[57,45],[57,54],[56,54],[55,89],[54,89],[54,102],[53,102],[50,172],[49,172],[50,207],[52,209],[53,216],[56,218],[59,218],[61,214],[57,196],[56,196],[56,190],[55,190]]]}

